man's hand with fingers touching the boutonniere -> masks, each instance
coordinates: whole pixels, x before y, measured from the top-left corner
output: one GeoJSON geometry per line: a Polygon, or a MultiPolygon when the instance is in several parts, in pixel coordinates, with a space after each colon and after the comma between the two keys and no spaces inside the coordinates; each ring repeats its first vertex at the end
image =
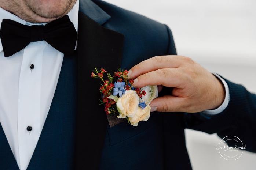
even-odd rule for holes
{"type": "Polygon", "coordinates": [[[201,112],[216,109],[225,98],[223,84],[201,65],[184,56],[157,56],[129,70],[133,86],[173,87],[172,94],[154,99],[151,112],[201,112]],[[135,79],[136,78],[136,79],[135,79]]]}

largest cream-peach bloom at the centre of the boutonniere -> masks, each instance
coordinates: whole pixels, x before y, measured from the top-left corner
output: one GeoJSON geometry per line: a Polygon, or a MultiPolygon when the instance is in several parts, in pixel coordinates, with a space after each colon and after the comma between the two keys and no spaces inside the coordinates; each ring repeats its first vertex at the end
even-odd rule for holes
{"type": "Polygon", "coordinates": [[[139,107],[139,96],[134,90],[126,90],[122,97],[117,100],[118,118],[133,117],[139,107]]]}

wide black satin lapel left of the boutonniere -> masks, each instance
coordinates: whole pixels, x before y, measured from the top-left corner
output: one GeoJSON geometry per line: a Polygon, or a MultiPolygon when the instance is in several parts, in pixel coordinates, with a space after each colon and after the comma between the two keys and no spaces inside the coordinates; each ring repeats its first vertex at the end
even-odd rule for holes
{"type": "Polygon", "coordinates": [[[78,114],[75,169],[98,169],[107,128],[104,106],[99,105],[95,67],[111,75],[121,66],[124,36],[106,29],[80,12],[78,26],[78,114]]]}

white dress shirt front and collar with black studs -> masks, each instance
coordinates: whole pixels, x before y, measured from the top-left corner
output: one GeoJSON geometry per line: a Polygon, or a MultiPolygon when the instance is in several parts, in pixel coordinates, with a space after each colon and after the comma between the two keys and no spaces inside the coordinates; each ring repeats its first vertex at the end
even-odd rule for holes
{"type": "MultiPolygon", "coordinates": [[[[76,30],[78,9],[77,1],[67,14],[76,30]]],[[[3,19],[28,26],[35,25],[0,8],[0,26],[3,19]]],[[[43,129],[63,56],[63,53],[47,42],[39,41],[31,42],[10,57],[4,57],[0,41],[0,122],[21,170],[28,167],[43,129]],[[30,69],[31,64],[34,69],[30,69]],[[32,131],[27,131],[28,126],[32,127],[32,131]]]]}

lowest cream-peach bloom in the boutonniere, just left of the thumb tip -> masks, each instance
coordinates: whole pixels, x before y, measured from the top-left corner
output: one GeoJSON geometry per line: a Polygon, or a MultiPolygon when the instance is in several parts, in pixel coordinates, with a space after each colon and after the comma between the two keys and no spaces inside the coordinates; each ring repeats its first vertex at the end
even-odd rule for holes
{"type": "Polygon", "coordinates": [[[129,117],[131,125],[138,126],[140,121],[147,121],[150,117],[150,109],[151,107],[149,105],[147,105],[144,109],[139,107],[134,117],[129,117]]]}

